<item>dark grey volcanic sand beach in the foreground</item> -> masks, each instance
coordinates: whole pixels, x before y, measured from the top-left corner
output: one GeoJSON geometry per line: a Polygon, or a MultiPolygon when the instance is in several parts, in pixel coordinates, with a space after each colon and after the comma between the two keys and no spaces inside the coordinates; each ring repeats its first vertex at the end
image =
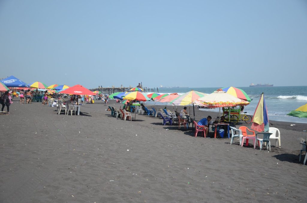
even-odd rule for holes
{"type": "MultiPolygon", "coordinates": [[[[194,137],[191,127],[163,126],[161,118],[123,121],[105,109],[95,101],[80,116],[58,115],[15,99],[11,114],[0,115],[0,202],[307,202],[297,141],[307,124],[269,118],[281,148],[271,143],[268,152],[238,139],[194,137]]],[[[216,117],[195,114],[196,121],[216,117]]]]}

